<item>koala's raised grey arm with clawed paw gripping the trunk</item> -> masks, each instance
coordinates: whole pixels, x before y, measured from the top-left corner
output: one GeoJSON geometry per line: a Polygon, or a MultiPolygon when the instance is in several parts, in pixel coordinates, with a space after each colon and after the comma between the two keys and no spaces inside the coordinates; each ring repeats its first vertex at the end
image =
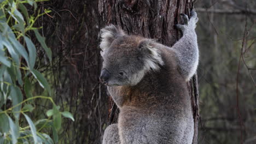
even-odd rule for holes
{"type": "Polygon", "coordinates": [[[195,74],[199,63],[199,50],[197,46],[197,38],[195,33],[196,22],[198,21],[195,11],[190,11],[190,20],[185,14],[181,14],[184,25],[176,25],[183,37],[174,44],[171,49],[176,54],[179,70],[186,81],[195,74]]]}

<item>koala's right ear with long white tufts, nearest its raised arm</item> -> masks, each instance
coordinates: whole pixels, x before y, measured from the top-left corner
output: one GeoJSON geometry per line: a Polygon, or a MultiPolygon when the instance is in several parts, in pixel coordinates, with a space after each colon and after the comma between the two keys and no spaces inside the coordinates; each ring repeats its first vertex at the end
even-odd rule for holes
{"type": "Polygon", "coordinates": [[[138,45],[138,49],[142,52],[144,67],[146,70],[159,70],[159,65],[164,65],[161,57],[161,51],[156,47],[154,40],[142,40],[138,45]]]}

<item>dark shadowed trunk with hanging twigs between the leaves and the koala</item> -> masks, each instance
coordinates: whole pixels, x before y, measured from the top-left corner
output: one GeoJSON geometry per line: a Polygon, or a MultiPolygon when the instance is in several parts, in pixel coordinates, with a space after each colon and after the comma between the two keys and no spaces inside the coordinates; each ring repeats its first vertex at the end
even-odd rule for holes
{"type": "MultiPolygon", "coordinates": [[[[52,83],[55,103],[73,113],[75,119],[73,123],[63,119],[65,129],[60,139],[64,143],[100,143],[108,98],[102,96],[107,95],[106,89],[98,81],[98,1],[55,0],[42,2],[39,7],[52,11],[36,22],[43,23],[41,31],[53,51],[53,61],[45,66],[44,74],[52,83]]],[[[39,58],[44,62],[44,55],[39,58]]]]}

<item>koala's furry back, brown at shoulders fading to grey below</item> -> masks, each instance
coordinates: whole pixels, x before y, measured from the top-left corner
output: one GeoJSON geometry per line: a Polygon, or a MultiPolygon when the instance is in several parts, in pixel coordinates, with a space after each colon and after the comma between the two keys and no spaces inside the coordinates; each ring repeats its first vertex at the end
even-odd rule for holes
{"type": "MultiPolygon", "coordinates": [[[[165,65],[135,87],[119,87],[123,97],[118,129],[123,143],[191,143],[194,121],[184,78],[173,53],[162,46],[165,65]]],[[[111,91],[110,91],[111,92],[111,91]]],[[[111,94],[111,93],[110,93],[111,94]]],[[[115,95],[111,94],[111,95],[115,95]]]]}

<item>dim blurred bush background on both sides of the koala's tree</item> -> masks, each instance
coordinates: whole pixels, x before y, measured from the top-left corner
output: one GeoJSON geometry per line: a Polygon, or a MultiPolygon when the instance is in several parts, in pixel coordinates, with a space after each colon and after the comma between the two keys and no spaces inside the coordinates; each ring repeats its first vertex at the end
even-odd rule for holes
{"type": "MultiPolygon", "coordinates": [[[[29,19],[33,20],[33,28],[24,33],[23,28],[18,27],[19,18],[15,17],[19,14],[14,11],[14,17],[10,18],[12,21],[5,22],[15,33],[16,40],[26,49],[30,48],[25,36],[30,38],[36,49],[34,53],[37,53],[34,67],[31,67],[30,58],[27,58],[26,62],[25,56],[19,54],[22,68],[17,67],[13,57],[8,57],[5,53],[4,56],[10,65],[13,65],[16,71],[21,70],[21,80],[24,81],[22,83],[18,80],[19,77],[12,77],[12,86],[20,89],[17,95],[26,95],[23,99],[27,99],[27,95],[44,96],[22,103],[23,108],[29,106],[19,109],[34,122],[32,124],[35,125],[38,138],[33,138],[36,136],[32,134],[31,125],[26,122],[25,115],[20,119],[15,118],[15,112],[9,109],[15,105],[11,103],[13,99],[2,96],[8,96],[12,86],[4,84],[6,79],[1,75],[0,102],[4,100],[4,103],[0,105],[0,118],[5,117],[6,120],[8,115],[16,124],[15,128],[24,133],[24,136],[27,135],[27,139],[16,137],[20,143],[33,143],[36,139],[48,143],[100,143],[107,126],[109,107],[106,88],[98,81],[101,70],[99,32],[104,26],[98,14],[98,1],[0,2],[0,26],[4,21],[2,16],[5,15],[8,19],[15,5],[18,5],[15,6],[16,10],[20,11],[26,20],[19,2],[27,9],[29,19]],[[7,5],[3,6],[4,2],[7,5]],[[39,14],[43,15],[37,17],[39,14]],[[42,38],[36,37],[34,31],[38,31],[42,38]],[[45,45],[42,44],[43,37],[45,45]],[[41,43],[38,39],[42,39],[41,43]],[[45,46],[52,52],[50,57],[45,46]],[[48,81],[45,85],[49,88],[40,86],[40,80],[33,76],[33,70],[45,77],[45,81],[48,81]],[[9,90],[7,86],[10,87],[9,90]],[[29,91],[25,91],[27,87],[29,91]],[[54,103],[45,98],[52,98],[54,103]],[[74,122],[72,115],[67,111],[73,114],[74,122]],[[56,113],[59,113],[58,117],[53,117],[56,113]],[[60,120],[61,114],[69,118],[60,120]],[[61,125],[54,124],[54,121],[61,122],[61,125]],[[22,131],[22,128],[27,131],[22,131]],[[40,134],[43,136],[40,137],[40,134]]],[[[199,17],[196,31],[200,48],[200,65],[197,71],[201,114],[198,142],[256,143],[256,2],[197,0],[194,7],[199,17]]],[[[23,27],[26,28],[31,22],[26,21],[23,27]]],[[[4,29],[1,28],[0,32],[3,34],[4,29]]],[[[6,48],[4,51],[7,52],[6,48]]],[[[33,55],[28,53],[27,56],[33,55]]],[[[1,70],[8,66],[8,63],[6,65],[0,62],[1,70]]],[[[9,120],[5,123],[9,123],[9,120]]],[[[4,121],[0,120],[0,124],[1,122],[4,124],[4,121]]],[[[8,133],[3,133],[7,131],[9,129],[0,129],[0,143],[3,139],[7,143],[8,140],[11,142],[8,133]]]]}

